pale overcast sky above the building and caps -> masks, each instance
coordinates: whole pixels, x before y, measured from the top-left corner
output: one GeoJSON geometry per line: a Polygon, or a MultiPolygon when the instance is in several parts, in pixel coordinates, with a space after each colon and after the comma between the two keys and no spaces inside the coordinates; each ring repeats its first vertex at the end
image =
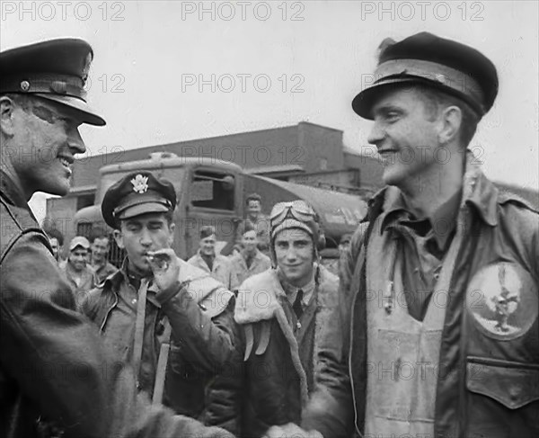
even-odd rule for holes
{"type": "Polygon", "coordinates": [[[88,99],[108,124],[83,127],[92,155],[299,121],[343,130],[360,151],[369,122],[350,102],[381,40],[460,40],[499,69],[497,102],[473,139],[486,174],[539,187],[535,1],[0,4],[2,49],[66,36],[93,46],[88,99]]]}

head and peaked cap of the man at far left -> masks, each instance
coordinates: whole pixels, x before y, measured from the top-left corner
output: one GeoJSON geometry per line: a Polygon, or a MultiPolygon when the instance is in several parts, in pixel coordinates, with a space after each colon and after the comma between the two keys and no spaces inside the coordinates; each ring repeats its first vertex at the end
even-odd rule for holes
{"type": "Polygon", "coordinates": [[[79,126],[105,124],[85,100],[92,59],[90,45],[75,39],[0,53],[3,186],[7,175],[21,183],[12,198],[69,191],[75,155],[86,150],[79,126]]]}

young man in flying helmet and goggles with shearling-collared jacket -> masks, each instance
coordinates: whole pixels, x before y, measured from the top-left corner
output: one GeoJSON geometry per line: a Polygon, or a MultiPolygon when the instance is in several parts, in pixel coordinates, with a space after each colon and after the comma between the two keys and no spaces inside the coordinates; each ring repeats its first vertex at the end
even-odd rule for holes
{"type": "Polygon", "coordinates": [[[339,286],[318,263],[319,237],[309,205],[279,202],[270,215],[274,269],[240,286],[234,318],[244,334],[243,436],[298,422],[314,388],[315,358],[339,286]]]}

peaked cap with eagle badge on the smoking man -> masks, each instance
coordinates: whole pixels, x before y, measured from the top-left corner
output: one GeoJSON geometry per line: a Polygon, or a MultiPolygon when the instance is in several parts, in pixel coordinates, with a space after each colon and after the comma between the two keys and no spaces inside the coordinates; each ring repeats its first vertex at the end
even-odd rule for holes
{"type": "Polygon", "coordinates": [[[102,201],[107,225],[119,228],[119,221],[146,213],[166,213],[176,207],[172,183],[150,172],[128,174],[110,186],[102,201]]]}

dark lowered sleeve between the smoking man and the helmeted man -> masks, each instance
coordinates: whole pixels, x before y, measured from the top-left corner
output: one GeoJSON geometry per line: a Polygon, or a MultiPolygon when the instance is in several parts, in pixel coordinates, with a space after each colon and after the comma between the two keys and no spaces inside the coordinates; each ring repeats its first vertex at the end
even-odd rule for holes
{"type": "MultiPolygon", "coordinates": [[[[205,425],[216,425],[239,435],[239,420],[241,418],[241,398],[243,389],[243,353],[239,326],[234,322],[234,299],[230,300],[225,312],[216,318],[223,319],[226,326],[234,329],[235,348],[221,367],[218,368],[215,379],[208,386],[206,408],[200,421],[205,425]]],[[[214,319],[216,319],[214,318],[214,319]]]]}

